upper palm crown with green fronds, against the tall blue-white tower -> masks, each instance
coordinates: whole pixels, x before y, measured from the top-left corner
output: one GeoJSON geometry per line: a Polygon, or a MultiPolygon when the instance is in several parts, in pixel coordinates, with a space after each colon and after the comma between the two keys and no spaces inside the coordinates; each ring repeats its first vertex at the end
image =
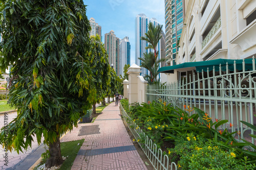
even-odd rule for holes
{"type": "Polygon", "coordinates": [[[159,40],[162,38],[161,32],[162,32],[163,25],[158,25],[155,27],[154,24],[152,22],[150,22],[150,23],[148,23],[147,27],[148,27],[148,31],[147,31],[147,33],[145,33],[145,37],[141,37],[140,39],[145,40],[148,43],[150,43],[146,47],[146,50],[148,48],[154,49],[155,58],[157,58],[156,47],[157,47],[159,40]]]}

